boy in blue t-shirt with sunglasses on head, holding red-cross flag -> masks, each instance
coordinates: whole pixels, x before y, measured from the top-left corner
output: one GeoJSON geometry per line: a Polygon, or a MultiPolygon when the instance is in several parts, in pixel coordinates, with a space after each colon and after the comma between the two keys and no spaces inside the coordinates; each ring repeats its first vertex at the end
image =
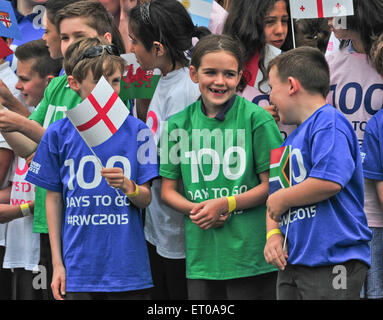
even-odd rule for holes
{"type": "MultiPolygon", "coordinates": [[[[82,99],[101,76],[119,91],[124,61],[106,40],[75,42],[64,66],[69,85],[82,99]]],[[[27,180],[48,190],[56,299],[148,297],[152,278],[140,208],[151,201],[150,181],[158,167],[141,158],[142,149],[155,148],[145,132],[150,132],[146,125],[129,115],[111,138],[93,147],[99,160],[68,118],[44,134],[27,180]]]]}

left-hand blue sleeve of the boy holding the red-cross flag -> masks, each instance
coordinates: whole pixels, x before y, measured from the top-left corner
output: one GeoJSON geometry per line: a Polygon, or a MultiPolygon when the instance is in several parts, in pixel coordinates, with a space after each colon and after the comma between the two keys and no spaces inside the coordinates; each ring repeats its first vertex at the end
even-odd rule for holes
{"type": "Polygon", "coordinates": [[[62,192],[58,135],[50,129],[45,132],[25,179],[44,189],[62,192]]]}

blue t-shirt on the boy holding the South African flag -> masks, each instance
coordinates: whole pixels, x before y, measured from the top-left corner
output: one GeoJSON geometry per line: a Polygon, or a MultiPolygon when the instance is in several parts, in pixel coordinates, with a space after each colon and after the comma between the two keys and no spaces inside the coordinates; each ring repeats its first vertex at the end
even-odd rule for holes
{"type": "MultiPolygon", "coordinates": [[[[291,208],[288,263],[322,266],[357,259],[370,265],[371,231],[363,211],[362,163],[349,121],[327,104],[294,130],[286,145],[292,150],[292,185],[311,177],[342,186],[327,200],[291,208]]],[[[286,225],[284,214],[283,234],[286,225]]]]}

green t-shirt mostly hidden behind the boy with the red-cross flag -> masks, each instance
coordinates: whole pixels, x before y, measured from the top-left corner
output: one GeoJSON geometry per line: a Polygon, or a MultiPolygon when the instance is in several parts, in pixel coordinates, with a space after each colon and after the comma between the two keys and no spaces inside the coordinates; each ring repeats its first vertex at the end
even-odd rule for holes
{"type": "MultiPolygon", "coordinates": [[[[46,129],[53,122],[65,118],[65,111],[76,107],[81,101],[81,97],[69,87],[66,75],[53,78],[29,119],[46,129]]],[[[33,232],[36,233],[48,233],[45,198],[46,190],[36,186],[33,218],[33,232]]]]}

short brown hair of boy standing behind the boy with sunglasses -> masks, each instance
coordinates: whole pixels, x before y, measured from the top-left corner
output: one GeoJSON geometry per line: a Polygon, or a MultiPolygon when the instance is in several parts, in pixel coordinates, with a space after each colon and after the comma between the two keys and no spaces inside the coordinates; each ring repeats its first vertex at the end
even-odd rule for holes
{"type": "Polygon", "coordinates": [[[64,19],[83,18],[86,24],[96,30],[99,36],[105,33],[112,35],[112,43],[120,53],[125,52],[124,42],[121,34],[113,22],[112,15],[98,1],[76,1],[59,10],[56,14],[55,25],[60,31],[60,23],[64,19]]]}

